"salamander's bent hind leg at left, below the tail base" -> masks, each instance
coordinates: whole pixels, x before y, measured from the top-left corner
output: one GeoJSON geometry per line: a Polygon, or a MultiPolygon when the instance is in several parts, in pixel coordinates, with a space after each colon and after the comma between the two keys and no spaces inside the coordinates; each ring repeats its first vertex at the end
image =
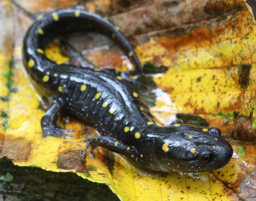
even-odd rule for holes
{"type": "Polygon", "coordinates": [[[72,135],[65,134],[66,132],[74,132],[71,129],[65,129],[65,127],[57,126],[56,122],[62,112],[64,107],[63,101],[60,98],[57,98],[53,101],[53,104],[46,111],[46,114],[41,119],[41,126],[43,130],[42,138],[46,136],[55,136],[55,137],[73,137],[72,135]]]}

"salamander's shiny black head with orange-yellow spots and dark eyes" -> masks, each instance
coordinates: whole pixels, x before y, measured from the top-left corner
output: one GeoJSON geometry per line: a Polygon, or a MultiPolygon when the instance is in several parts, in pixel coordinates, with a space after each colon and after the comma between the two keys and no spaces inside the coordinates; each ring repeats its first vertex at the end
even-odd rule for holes
{"type": "Polygon", "coordinates": [[[178,124],[163,127],[162,132],[155,152],[165,172],[207,172],[223,167],[233,155],[231,145],[215,127],[178,124]]]}

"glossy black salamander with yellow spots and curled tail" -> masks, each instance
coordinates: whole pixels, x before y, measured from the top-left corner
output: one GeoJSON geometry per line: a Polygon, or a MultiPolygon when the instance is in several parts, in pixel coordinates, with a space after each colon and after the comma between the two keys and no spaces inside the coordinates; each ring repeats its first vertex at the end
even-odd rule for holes
{"type": "Polygon", "coordinates": [[[48,13],[28,29],[23,40],[23,63],[34,85],[49,99],[42,117],[43,137],[70,136],[56,124],[65,109],[97,129],[99,136],[86,142],[83,156],[104,147],[129,159],[143,170],[157,172],[206,172],[223,167],[233,149],[220,129],[183,124],[156,123],[149,107],[129,82],[111,70],[56,64],[44,48],[59,34],[90,31],[112,38],[143,74],[139,59],[126,37],[106,18],[84,10],[63,9],[48,13]]]}

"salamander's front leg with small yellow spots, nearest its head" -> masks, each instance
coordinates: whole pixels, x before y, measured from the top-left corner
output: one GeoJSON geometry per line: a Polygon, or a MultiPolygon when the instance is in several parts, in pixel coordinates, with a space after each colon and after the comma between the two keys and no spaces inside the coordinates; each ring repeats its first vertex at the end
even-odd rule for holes
{"type": "Polygon", "coordinates": [[[86,157],[87,150],[90,148],[91,157],[95,158],[92,152],[97,146],[104,147],[116,153],[120,153],[126,158],[129,158],[131,160],[132,158],[136,158],[138,156],[138,152],[133,146],[128,146],[113,137],[109,137],[109,136],[90,137],[85,139],[83,142],[87,142],[84,148],[84,152],[82,154],[83,157],[86,157]]]}

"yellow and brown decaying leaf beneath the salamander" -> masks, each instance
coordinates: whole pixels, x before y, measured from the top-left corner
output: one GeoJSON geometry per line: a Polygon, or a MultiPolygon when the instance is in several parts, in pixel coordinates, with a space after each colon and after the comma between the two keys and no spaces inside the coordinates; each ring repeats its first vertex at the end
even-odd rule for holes
{"type": "MultiPolygon", "coordinates": [[[[154,69],[154,74],[146,78],[152,76],[152,86],[156,87],[142,95],[151,102],[151,95],[156,97],[151,112],[158,121],[168,125],[176,114],[184,113],[188,115],[180,116],[189,123],[196,114],[197,124],[203,120],[209,127],[219,127],[229,139],[234,149],[230,163],[196,174],[145,173],[101,147],[94,152],[96,159],[87,156],[85,162],[80,154],[85,146],[82,140],[97,136],[97,131],[72,117],[59,119],[59,124],[74,129],[73,138],[42,139],[40,120],[47,103],[23,68],[22,38],[40,12],[77,5],[74,1],[58,1],[58,5],[31,0],[16,3],[0,2],[1,157],[7,156],[20,166],[74,172],[90,181],[106,183],[121,200],[255,199],[256,23],[244,0],[80,3],[89,11],[111,15],[110,19],[136,47],[140,62],[154,69]],[[168,67],[166,72],[161,70],[163,66],[168,67]],[[161,73],[156,74],[158,68],[161,73]]],[[[68,36],[64,43],[80,55],[74,56],[61,45],[62,40],[55,40],[45,50],[48,58],[57,63],[90,62],[119,70],[132,67],[124,53],[97,34],[68,36]],[[96,46],[92,40],[95,37],[102,38],[96,46]],[[81,45],[81,40],[87,45],[81,45]]]]}

